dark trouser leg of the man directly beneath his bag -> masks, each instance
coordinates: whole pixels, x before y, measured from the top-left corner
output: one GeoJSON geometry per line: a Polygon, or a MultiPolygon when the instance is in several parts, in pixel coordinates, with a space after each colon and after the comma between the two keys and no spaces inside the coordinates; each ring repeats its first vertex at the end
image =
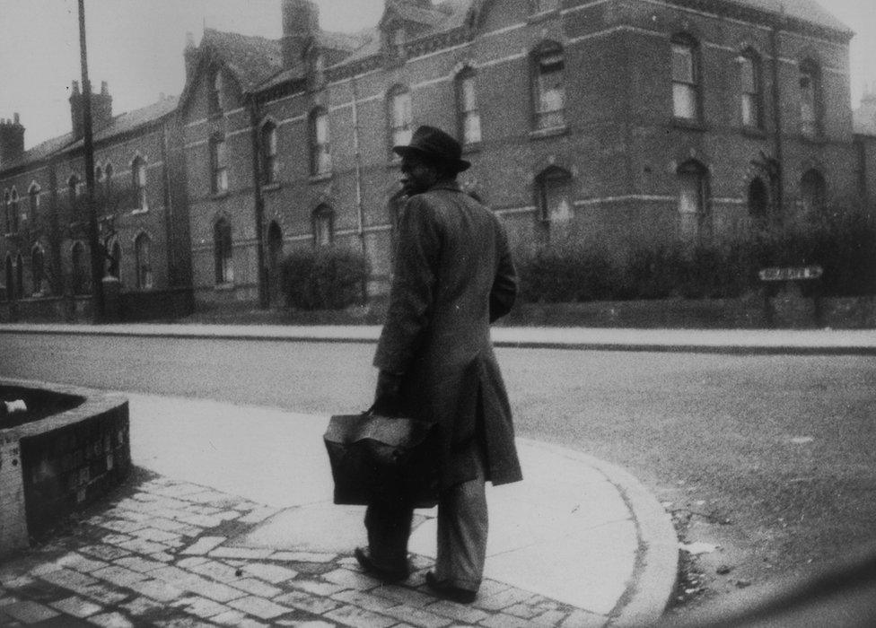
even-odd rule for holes
{"type": "Polygon", "coordinates": [[[405,500],[381,498],[365,510],[372,561],[382,569],[407,569],[407,539],[414,509],[405,500]]]}

